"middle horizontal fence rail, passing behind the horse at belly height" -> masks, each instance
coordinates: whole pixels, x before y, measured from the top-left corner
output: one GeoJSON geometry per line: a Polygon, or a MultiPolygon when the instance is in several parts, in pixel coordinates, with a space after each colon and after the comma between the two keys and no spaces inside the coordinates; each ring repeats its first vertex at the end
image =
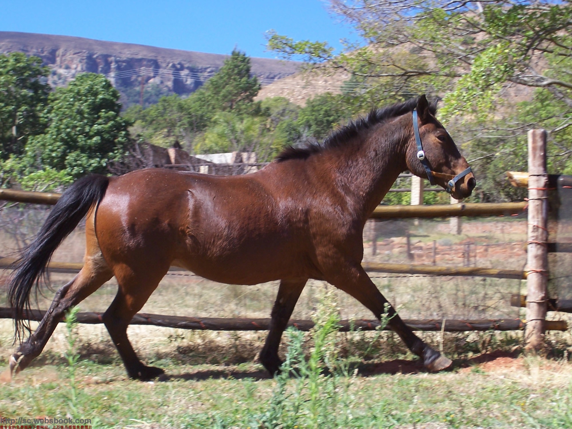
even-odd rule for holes
{"type": "MultiPolygon", "coordinates": [[[[0,269],[10,269],[14,258],[0,259],[0,269]]],[[[84,266],[82,263],[50,262],[47,268],[51,272],[78,273],[84,266]]],[[[482,267],[439,267],[438,265],[410,264],[377,264],[364,263],[362,267],[368,272],[412,274],[426,276],[471,276],[492,277],[494,279],[526,280],[526,272],[516,269],[482,268],[482,267]]],[[[171,267],[169,272],[186,271],[184,268],[171,267]]]]}

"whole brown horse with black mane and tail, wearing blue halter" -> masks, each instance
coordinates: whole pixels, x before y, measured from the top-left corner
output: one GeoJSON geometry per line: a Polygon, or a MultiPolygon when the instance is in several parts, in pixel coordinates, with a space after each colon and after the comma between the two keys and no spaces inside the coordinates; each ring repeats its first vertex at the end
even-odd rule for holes
{"type": "MultiPolygon", "coordinates": [[[[288,148],[245,176],[146,169],[78,180],[63,193],[15,267],[9,297],[19,339],[29,330],[24,310],[31,289],[55,248],[87,215],[84,268],[55,293],[38,328],[10,357],[10,374],[41,353],[67,309],[112,276],[119,287],[103,321],[129,376],[148,380],[162,374],[137,358],[126,328],[171,265],[221,283],[280,280],[260,353],[271,374],[279,371],[280,337],[308,279],[328,281],[380,317],[387,300],[362,268],[362,234],[399,173],[408,169],[427,177],[424,165],[429,165],[430,172],[437,170],[434,180],[445,187],[447,178],[464,172],[448,185],[459,199],[475,186],[467,161],[434,115],[435,106],[425,96],[375,110],[323,143],[288,148]],[[415,134],[426,156],[420,156],[415,134]]],[[[389,311],[395,314],[393,308],[389,311]]],[[[429,370],[450,366],[398,315],[390,327],[429,370]]]]}

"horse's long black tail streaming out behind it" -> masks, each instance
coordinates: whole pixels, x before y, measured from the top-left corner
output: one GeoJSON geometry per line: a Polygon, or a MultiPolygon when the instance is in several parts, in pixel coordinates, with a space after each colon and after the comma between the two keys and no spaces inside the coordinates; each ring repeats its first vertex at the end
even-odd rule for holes
{"type": "Polygon", "coordinates": [[[8,297],[14,309],[15,338],[22,340],[25,331],[30,331],[24,309],[30,308],[30,292],[39,287],[39,279],[55,249],[76,228],[93,204],[105,195],[109,178],[100,174],[82,177],[70,186],[51,210],[34,241],[22,251],[14,264],[8,297]]]}

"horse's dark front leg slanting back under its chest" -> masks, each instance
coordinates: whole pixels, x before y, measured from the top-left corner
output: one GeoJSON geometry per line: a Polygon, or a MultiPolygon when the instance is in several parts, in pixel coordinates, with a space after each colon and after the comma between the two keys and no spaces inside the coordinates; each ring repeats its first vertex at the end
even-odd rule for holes
{"type": "Polygon", "coordinates": [[[292,315],[292,311],[304,289],[307,280],[282,280],[278,289],[278,295],[274,307],[272,308],[272,319],[270,321],[270,332],[264,343],[264,347],[260,352],[260,362],[264,368],[270,372],[270,375],[276,374],[282,364],[278,357],[278,347],[280,338],[288,320],[292,315]]]}

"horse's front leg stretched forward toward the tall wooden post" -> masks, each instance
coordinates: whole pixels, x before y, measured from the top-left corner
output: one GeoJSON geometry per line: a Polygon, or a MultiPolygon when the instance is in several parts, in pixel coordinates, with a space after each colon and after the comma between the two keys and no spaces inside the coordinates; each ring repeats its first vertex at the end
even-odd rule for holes
{"type": "Polygon", "coordinates": [[[428,370],[441,371],[451,366],[452,362],[450,359],[424,343],[403,322],[395,309],[391,305],[387,305],[389,304],[388,301],[379,292],[361,265],[349,265],[347,268],[342,269],[341,272],[338,271],[330,283],[360,301],[378,319],[381,318],[387,308],[388,316],[391,317],[388,326],[401,337],[413,353],[423,359],[423,365],[428,370]]]}

